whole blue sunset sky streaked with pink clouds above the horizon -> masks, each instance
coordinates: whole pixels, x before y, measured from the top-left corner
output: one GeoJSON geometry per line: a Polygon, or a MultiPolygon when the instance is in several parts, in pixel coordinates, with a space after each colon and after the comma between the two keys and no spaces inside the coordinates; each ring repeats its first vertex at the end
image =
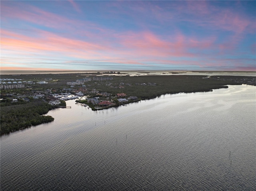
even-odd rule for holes
{"type": "Polygon", "coordinates": [[[0,1],[1,70],[256,71],[256,1],[0,1]]]}

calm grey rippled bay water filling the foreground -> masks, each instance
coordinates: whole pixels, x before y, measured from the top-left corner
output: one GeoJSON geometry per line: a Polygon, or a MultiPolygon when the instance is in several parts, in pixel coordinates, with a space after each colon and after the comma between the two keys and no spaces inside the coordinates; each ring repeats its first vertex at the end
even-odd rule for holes
{"type": "Polygon", "coordinates": [[[1,137],[1,190],[254,190],[256,87],[164,95],[1,137]]]}

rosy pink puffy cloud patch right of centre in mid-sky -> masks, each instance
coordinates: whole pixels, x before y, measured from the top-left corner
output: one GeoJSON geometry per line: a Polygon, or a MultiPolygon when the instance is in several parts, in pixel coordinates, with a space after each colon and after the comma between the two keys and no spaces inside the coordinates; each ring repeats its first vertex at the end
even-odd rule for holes
{"type": "Polygon", "coordinates": [[[190,52],[190,49],[199,53],[214,45],[215,37],[206,39],[196,39],[187,37],[182,33],[172,35],[171,37],[161,38],[152,32],[129,32],[118,36],[122,47],[126,51],[131,50],[140,56],[148,57],[195,57],[197,53],[190,52]]]}

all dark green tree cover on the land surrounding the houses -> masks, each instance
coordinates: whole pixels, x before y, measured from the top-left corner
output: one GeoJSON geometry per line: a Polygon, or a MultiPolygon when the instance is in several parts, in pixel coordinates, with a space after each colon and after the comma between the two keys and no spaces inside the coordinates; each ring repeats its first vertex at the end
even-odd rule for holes
{"type": "MultiPolygon", "coordinates": [[[[2,78],[11,78],[10,75],[3,75],[2,78]]],[[[55,90],[54,92],[61,92],[63,88],[69,88],[66,85],[67,81],[75,81],[85,77],[81,74],[46,74],[46,75],[20,75],[20,79],[26,81],[41,81],[44,78],[52,78],[52,81],[48,84],[34,84],[29,85],[30,88],[22,89],[7,89],[1,90],[0,107],[0,134],[6,134],[12,131],[26,128],[31,125],[42,124],[44,122],[50,122],[54,120],[51,116],[42,116],[46,114],[50,109],[54,108],[43,100],[33,100],[30,102],[24,102],[22,99],[18,99],[18,102],[13,103],[11,98],[5,97],[4,94],[17,93],[25,95],[33,95],[35,91],[45,91],[46,89],[55,90]]],[[[91,78],[93,76],[90,76],[91,78]]],[[[227,88],[226,85],[240,85],[236,80],[238,79],[253,79],[254,77],[234,77],[234,76],[212,76],[206,78],[204,75],[143,75],[143,76],[112,76],[111,81],[90,81],[85,83],[86,88],[89,91],[96,89],[99,92],[108,92],[112,96],[118,93],[126,93],[127,96],[137,96],[139,99],[150,99],[164,94],[175,93],[192,93],[192,92],[207,92],[212,89],[227,88]],[[149,84],[151,83],[151,85],[149,84]],[[144,84],[144,85],[142,85],[144,84]],[[155,84],[155,85],[154,85],[155,84]],[[124,88],[119,88],[120,86],[124,88]]],[[[81,86],[74,87],[78,89],[81,86]]],[[[116,106],[120,104],[114,99],[116,106]]],[[[86,103],[90,107],[94,108],[90,103],[86,103]]],[[[62,102],[63,106],[66,105],[62,102]]],[[[58,107],[58,106],[55,106],[58,107]]]]}

